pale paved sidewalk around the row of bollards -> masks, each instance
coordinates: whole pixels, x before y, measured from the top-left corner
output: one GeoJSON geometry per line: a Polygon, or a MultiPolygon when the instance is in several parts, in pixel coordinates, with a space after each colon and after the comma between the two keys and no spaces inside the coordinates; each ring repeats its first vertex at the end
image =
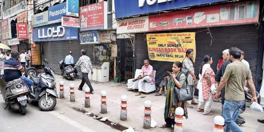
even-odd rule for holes
{"type": "MultiPolygon", "coordinates": [[[[141,94],[141,96],[146,96],[145,98],[140,98],[141,96],[135,97],[135,92],[127,91],[126,84],[119,84],[114,82],[106,83],[92,83],[94,88],[94,94],[90,95],[91,107],[84,108],[84,91],[79,91],[78,86],[81,80],[75,79],[74,81],[63,79],[60,75],[55,75],[57,82],[57,93],[59,93],[59,82],[64,82],[65,89],[65,99],[58,99],[58,103],[68,107],[78,107],[84,109],[85,111],[96,113],[102,117],[109,117],[109,121],[120,123],[125,127],[133,127],[137,131],[142,132],[170,132],[173,131],[172,128],[160,128],[164,122],[163,113],[165,106],[165,96],[154,96],[155,94],[141,94]],[[70,83],[75,84],[75,102],[70,102],[70,83]],[[107,92],[107,114],[100,114],[100,103],[102,90],[107,92]],[[128,97],[128,120],[120,121],[120,97],[126,95],[128,97]],[[145,130],[143,126],[143,116],[144,116],[144,102],[150,100],[152,102],[152,114],[151,117],[154,119],[158,126],[156,128],[151,128],[145,130]]],[[[84,85],[84,88],[87,85],[84,85]]],[[[212,105],[213,115],[204,116],[202,112],[197,112],[197,105],[194,109],[188,109],[188,119],[184,119],[183,128],[184,132],[212,132],[214,126],[214,117],[221,114],[221,103],[214,102],[212,105]]],[[[66,112],[66,111],[65,111],[66,112]]],[[[257,119],[264,119],[264,113],[251,111],[249,108],[242,114],[246,119],[246,123],[241,126],[245,132],[262,132],[264,129],[264,124],[257,122],[257,119]]],[[[90,117],[87,117],[90,118],[90,117]]]]}

